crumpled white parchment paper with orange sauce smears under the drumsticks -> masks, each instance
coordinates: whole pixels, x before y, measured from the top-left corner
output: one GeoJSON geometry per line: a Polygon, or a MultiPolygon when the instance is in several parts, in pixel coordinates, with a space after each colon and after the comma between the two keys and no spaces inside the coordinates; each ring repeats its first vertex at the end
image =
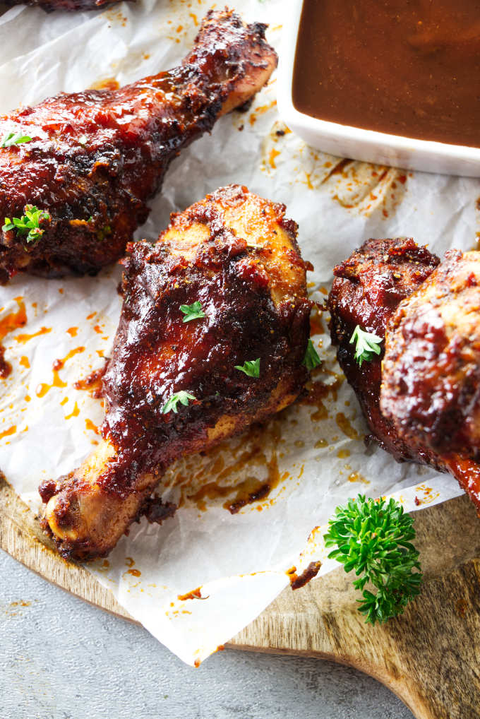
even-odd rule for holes
{"type": "MultiPolygon", "coordinates": [[[[229,4],[249,22],[269,22],[269,41],[279,48],[284,3],[229,4]]],[[[0,111],[111,78],[128,83],[177,64],[210,5],[145,0],[80,14],[10,9],[0,17],[0,111]]],[[[317,300],[328,290],[333,265],[368,237],[411,235],[440,255],[449,247],[474,247],[478,180],[340,162],[311,150],[282,124],[275,83],[272,78],[247,114],[221,119],[210,137],[183,152],[137,237],[157,237],[171,211],[236,182],[286,203],[287,216],[300,225],[303,257],[315,266],[309,279],[317,300]]],[[[120,311],[118,280],[114,267],[98,278],[19,275],[0,288],[0,322],[22,303],[27,312],[26,326],[4,339],[13,372],[0,383],[0,467],[34,509],[39,482],[72,470],[98,441],[101,401],[73,383],[109,355],[120,311]],[[55,359],[65,359],[56,373],[55,359]]],[[[320,325],[314,319],[314,329],[324,360],[315,380],[331,390],[208,456],[180,460],[167,472],[163,493],[180,500],[175,518],[161,527],[134,525],[107,560],[88,565],[189,664],[253,620],[289,584],[289,567],[300,572],[320,559],[323,574],[336,566],[326,560],[321,526],[349,496],[394,493],[414,510],[415,498],[422,507],[461,493],[451,477],[366,449],[366,425],[336,365],[326,318],[320,325]],[[234,516],[223,507],[235,498],[236,485],[259,484],[268,475],[277,484],[267,498],[234,516]],[[207,599],[178,598],[197,587],[207,599]]]]}

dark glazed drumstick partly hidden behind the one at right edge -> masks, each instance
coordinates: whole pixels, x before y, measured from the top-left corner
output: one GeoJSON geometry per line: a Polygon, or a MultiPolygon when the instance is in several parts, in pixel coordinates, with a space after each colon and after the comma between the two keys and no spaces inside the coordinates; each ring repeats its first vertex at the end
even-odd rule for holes
{"type": "Polygon", "coordinates": [[[411,238],[369,239],[333,270],[335,279],[328,297],[328,309],[332,342],[338,347],[338,362],[359,398],[374,439],[396,459],[433,462],[424,448],[412,450],[399,436],[392,421],[380,412],[384,343],[378,357],[359,367],[350,339],[357,324],[384,337],[387,324],[400,302],[420,287],[438,262],[438,257],[425,247],[418,247],[411,238]]]}

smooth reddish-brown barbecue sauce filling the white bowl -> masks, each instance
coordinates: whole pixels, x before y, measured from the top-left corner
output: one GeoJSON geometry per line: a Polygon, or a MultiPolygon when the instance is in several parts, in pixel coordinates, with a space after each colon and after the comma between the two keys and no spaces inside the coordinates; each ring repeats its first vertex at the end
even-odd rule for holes
{"type": "Polygon", "coordinates": [[[293,101],[331,122],[480,147],[480,2],[304,0],[293,101]]]}

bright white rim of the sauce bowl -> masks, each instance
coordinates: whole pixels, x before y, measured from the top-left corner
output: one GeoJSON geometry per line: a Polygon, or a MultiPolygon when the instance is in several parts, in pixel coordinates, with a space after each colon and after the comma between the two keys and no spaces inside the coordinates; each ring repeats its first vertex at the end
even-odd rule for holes
{"type": "Polygon", "coordinates": [[[480,147],[448,145],[446,142],[377,132],[376,130],[321,120],[298,111],[293,104],[292,85],[303,1],[289,0],[288,12],[282,28],[277,103],[280,115],[288,127],[302,127],[311,134],[317,134],[328,139],[348,139],[350,142],[358,142],[359,145],[364,147],[388,147],[390,151],[415,152],[417,156],[429,155],[431,157],[436,155],[438,158],[468,161],[469,164],[476,161],[480,162],[480,147]]]}

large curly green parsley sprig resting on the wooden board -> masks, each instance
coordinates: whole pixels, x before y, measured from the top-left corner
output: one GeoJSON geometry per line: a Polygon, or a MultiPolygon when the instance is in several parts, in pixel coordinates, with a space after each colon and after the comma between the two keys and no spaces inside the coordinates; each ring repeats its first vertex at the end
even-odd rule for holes
{"type": "Polygon", "coordinates": [[[362,590],[359,611],[366,623],[383,623],[402,614],[420,594],[423,576],[419,553],[410,541],[415,539],[413,520],[402,505],[394,499],[387,503],[359,495],[336,508],[328,528],[325,544],[337,547],[328,557],[360,577],[354,587],[362,590]],[[365,589],[367,583],[377,592],[365,589]]]}

